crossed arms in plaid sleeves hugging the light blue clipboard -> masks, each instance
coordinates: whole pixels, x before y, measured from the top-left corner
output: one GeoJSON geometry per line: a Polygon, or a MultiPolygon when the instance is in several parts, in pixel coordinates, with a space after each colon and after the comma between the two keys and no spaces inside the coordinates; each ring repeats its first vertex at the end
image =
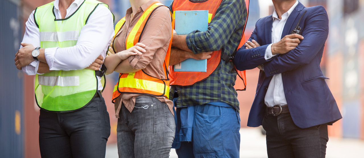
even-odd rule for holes
{"type": "Polygon", "coordinates": [[[195,30],[188,35],[174,33],[172,46],[176,48],[171,50],[169,65],[177,64],[189,58],[197,60],[211,58],[212,52],[221,50],[229,42],[230,33],[236,31],[241,20],[245,20],[245,6],[244,1],[223,1],[217,9],[215,17],[211,20],[207,31],[195,30]],[[226,21],[229,21],[229,24],[226,24],[226,21]]]}

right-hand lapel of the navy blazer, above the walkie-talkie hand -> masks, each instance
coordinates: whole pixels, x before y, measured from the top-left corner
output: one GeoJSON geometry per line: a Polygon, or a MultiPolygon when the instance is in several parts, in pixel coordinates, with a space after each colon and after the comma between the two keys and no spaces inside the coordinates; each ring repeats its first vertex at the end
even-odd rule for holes
{"type": "Polygon", "coordinates": [[[284,25],[281,39],[284,36],[289,35],[291,31],[294,29],[294,27],[296,27],[298,20],[300,20],[300,17],[297,18],[297,16],[298,14],[300,14],[303,8],[304,6],[300,2],[298,2],[296,8],[293,9],[291,15],[289,15],[286,21],[286,24],[284,25]]]}

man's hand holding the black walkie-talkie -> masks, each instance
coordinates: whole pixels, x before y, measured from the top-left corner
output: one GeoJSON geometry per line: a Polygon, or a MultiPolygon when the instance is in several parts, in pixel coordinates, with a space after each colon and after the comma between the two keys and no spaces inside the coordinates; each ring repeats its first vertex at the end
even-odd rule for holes
{"type": "Polygon", "coordinates": [[[284,36],[279,42],[272,44],[272,54],[285,54],[293,50],[300,44],[300,39],[302,40],[303,36],[296,33],[284,36]]]}

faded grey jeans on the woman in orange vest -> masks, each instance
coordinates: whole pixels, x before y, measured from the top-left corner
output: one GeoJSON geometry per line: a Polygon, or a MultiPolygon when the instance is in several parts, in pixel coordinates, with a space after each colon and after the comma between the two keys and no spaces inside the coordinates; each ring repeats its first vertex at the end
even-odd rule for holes
{"type": "Polygon", "coordinates": [[[165,102],[149,95],[122,104],[117,126],[119,158],[167,158],[175,135],[174,116],[165,102]]]}

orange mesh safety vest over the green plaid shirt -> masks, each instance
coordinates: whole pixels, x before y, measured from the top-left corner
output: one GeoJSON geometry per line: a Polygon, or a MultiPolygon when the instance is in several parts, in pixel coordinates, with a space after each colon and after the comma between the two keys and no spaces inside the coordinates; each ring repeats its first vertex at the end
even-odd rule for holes
{"type": "MultiPolygon", "coordinates": [[[[249,0],[246,0],[249,3],[249,0]]],[[[221,4],[222,0],[206,0],[201,2],[191,2],[189,0],[174,0],[172,4],[173,11],[193,11],[193,10],[208,10],[209,11],[209,23],[214,18],[215,13],[221,4]],[[211,5],[213,4],[213,5],[211,5]]],[[[248,6],[248,5],[247,5],[248,6]]],[[[237,6],[238,7],[238,6],[237,6]]],[[[172,22],[174,23],[174,21],[172,22]]],[[[245,23],[246,24],[246,23],[245,23]]],[[[245,25],[244,25],[245,29],[245,25]]],[[[242,44],[245,43],[244,31],[242,35],[242,44]]],[[[239,46],[238,48],[240,48],[239,46]]],[[[215,71],[221,60],[221,50],[214,51],[211,54],[211,58],[207,59],[206,72],[175,72],[174,66],[169,66],[169,77],[171,79],[171,86],[187,87],[192,86],[194,83],[200,82],[208,78],[212,72],[215,71]]],[[[237,88],[237,90],[245,90],[246,77],[245,71],[238,72],[238,76],[243,80],[243,88],[237,88]]]]}

